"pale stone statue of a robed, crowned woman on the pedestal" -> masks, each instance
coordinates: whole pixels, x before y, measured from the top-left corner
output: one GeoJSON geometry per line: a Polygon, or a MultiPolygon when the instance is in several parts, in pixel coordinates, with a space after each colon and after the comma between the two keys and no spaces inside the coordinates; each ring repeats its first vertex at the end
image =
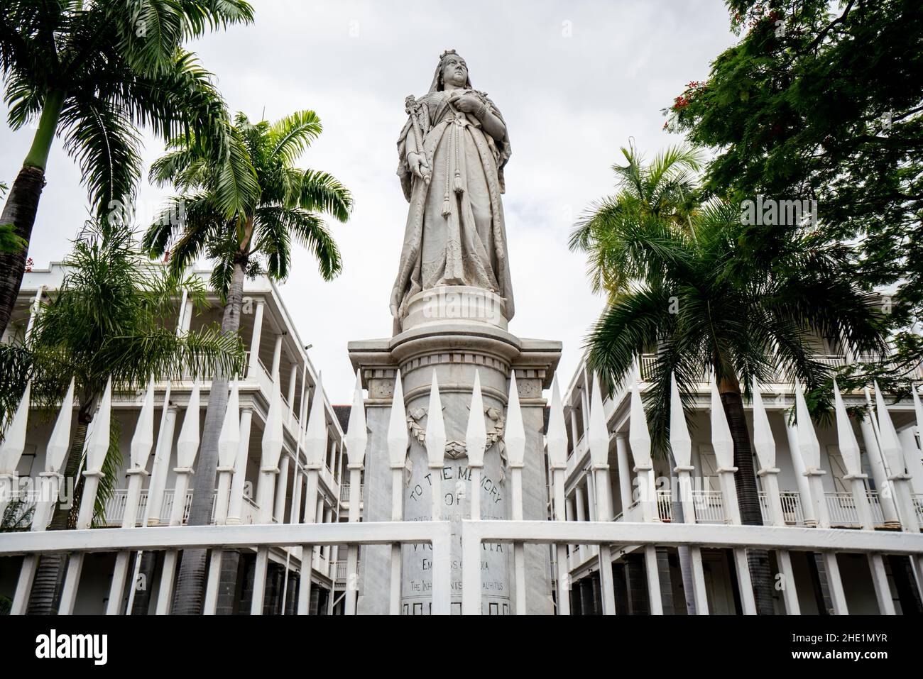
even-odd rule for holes
{"type": "Polygon", "coordinates": [[[390,299],[395,331],[409,300],[439,286],[494,292],[509,320],[513,295],[500,195],[510,149],[503,116],[485,92],[472,88],[455,50],[439,58],[429,91],[405,103],[398,175],[410,209],[390,299]]]}

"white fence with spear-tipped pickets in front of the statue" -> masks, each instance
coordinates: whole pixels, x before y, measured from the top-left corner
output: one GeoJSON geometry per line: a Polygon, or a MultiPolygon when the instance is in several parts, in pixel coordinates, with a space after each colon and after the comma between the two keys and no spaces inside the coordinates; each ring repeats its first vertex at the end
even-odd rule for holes
{"type": "MultiPolygon", "coordinates": [[[[278,385],[278,375],[274,375],[278,385]]],[[[207,548],[212,550],[210,575],[207,584],[205,613],[215,612],[217,573],[221,567],[222,549],[249,548],[258,554],[255,592],[251,613],[263,612],[263,591],[266,580],[266,566],[270,550],[286,550],[288,558],[294,558],[296,566],[300,563],[301,578],[297,594],[297,613],[308,612],[311,588],[310,555],[316,546],[347,545],[348,560],[346,566],[346,613],[357,613],[362,583],[359,581],[359,550],[363,545],[391,545],[390,559],[390,613],[400,612],[402,561],[400,558],[402,544],[428,543],[433,549],[432,575],[432,612],[449,613],[452,595],[452,568],[450,545],[453,539],[462,543],[462,613],[481,613],[481,551],[485,542],[504,542],[513,545],[513,581],[517,590],[514,597],[514,611],[528,613],[526,609],[525,553],[522,545],[527,543],[545,544],[553,547],[553,564],[556,566],[553,579],[556,581],[557,613],[569,613],[569,570],[567,567],[566,548],[569,544],[596,545],[598,558],[603,570],[601,578],[604,613],[616,613],[615,592],[612,580],[612,547],[623,548],[631,545],[641,549],[644,555],[647,573],[648,595],[652,613],[663,613],[660,592],[660,580],[657,570],[655,548],[658,546],[675,546],[688,548],[692,566],[692,599],[696,613],[708,613],[706,589],[701,568],[701,549],[725,548],[733,551],[737,562],[738,589],[742,594],[745,613],[754,613],[752,587],[749,582],[746,550],[765,549],[776,554],[782,574],[786,578],[784,605],[787,613],[798,613],[797,591],[791,572],[789,553],[791,551],[811,551],[822,555],[830,596],[835,613],[848,613],[845,593],[836,561],[836,554],[851,552],[865,554],[875,586],[881,613],[894,613],[891,592],[883,566],[882,555],[906,554],[917,581],[923,580],[919,558],[923,554],[923,535],[919,532],[917,507],[909,489],[909,476],[905,473],[902,462],[900,441],[894,431],[893,422],[881,399],[881,391],[876,388],[877,420],[876,427],[881,431],[881,452],[889,471],[889,480],[895,486],[898,495],[898,510],[902,518],[904,531],[874,530],[876,515],[871,495],[865,492],[864,476],[858,466],[858,447],[852,425],[845,411],[843,399],[838,387],[835,392],[835,414],[839,446],[842,450],[848,470],[848,480],[853,483],[853,493],[847,498],[857,512],[860,530],[844,530],[831,527],[831,514],[820,484],[820,447],[814,426],[810,421],[801,387],[796,386],[796,430],[792,433],[793,441],[804,459],[806,474],[809,478],[810,497],[802,498],[809,505],[811,516],[816,517],[816,527],[791,526],[786,520],[785,498],[780,494],[775,476],[775,443],[769,428],[765,409],[762,404],[760,387],[753,385],[754,392],[754,444],[761,469],[759,474],[764,482],[762,494],[766,525],[741,525],[737,510],[737,497],[733,485],[733,443],[724,411],[720,406],[717,389],[712,384],[711,431],[712,444],[719,462],[721,475],[724,523],[697,522],[698,509],[689,492],[689,474],[694,471],[691,463],[691,438],[686,423],[686,416],[679,403],[676,381],[672,384],[670,411],[670,444],[673,462],[678,476],[680,501],[683,508],[683,522],[665,520],[658,511],[657,494],[653,488],[653,460],[651,459],[651,436],[644,415],[641,399],[641,375],[630,380],[629,388],[629,427],[625,436],[632,451],[641,499],[640,520],[612,520],[612,499],[609,497],[610,486],[608,456],[610,443],[619,435],[609,431],[608,414],[605,411],[599,381],[593,375],[593,390],[588,401],[588,429],[590,456],[595,486],[593,521],[565,520],[564,483],[567,469],[568,436],[565,428],[564,411],[557,387],[557,378],[553,381],[551,394],[551,413],[546,436],[546,447],[551,472],[552,511],[549,518],[555,520],[522,520],[521,472],[528,456],[524,454],[529,437],[523,429],[520,412],[519,395],[515,375],[510,375],[505,443],[509,459],[511,485],[510,520],[481,520],[478,503],[473,503],[472,518],[461,521],[461,535],[452,535],[449,521],[441,520],[440,504],[433,503],[432,519],[428,521],[402,520],[402,472],[406,461],[409,438],[404,411],[403,392],[400,375],[394,390],[394,401],[390,415],[387,434],[387,452],[392,480],[392,512],[390,521],[360,521],[359,491],[361,474],[366,463],[368,435],[366,430],[365,405],[360,375],[356,375],[354,403],[346,435],[346,451],[350,471],[350,516],[346,523],[317,523],[314,511],[306,511],[304,520],[299,521],[299,511],[293,511],[289,522],[280,522],[282,516],[273,517],[273,497],[276,493],[276,475],[282,449],[282,395],[278,386],[271,393],[270,411],[263,436],[260,481],[258,493],[261,498],[262,511],[258,515],[257,525],[240,525],[226,522],[234,513],[234,505],[240,498],[234,497],[231,479],[239,469],[236,464],[242,441],[238,427],[241,425],[237,383],[231,386],[228,411],[225,414],[220,440],[219,482],[215,506],[215,525],[181,527],[183,503],[174,503],[169,526],[142,526],[136,528],[136,520],[141,509],[143,496],[141,485],[150,460],[154,438],[152,431],[154,395],[153,381],[145,394],[138,417],[138,427],[132,439],[129,467],[129,488],[124,502],[122,527],[111,530],[90,530],[90,517],[103,459],[108,449],[109,421],[111,418],[112,387],[106,387],[101,401],[100,411],[94,418],[94,425],[88,436],[86,462],[83,475],[84,483],[81,511],[78,518],[78,530],[44,530],[50,517],[50,507],[42,506],[36,512],[32,529],[10,532],[0,535],[0,557],[22,554],[25,556],[20,567],[17,590],[12,605],[12,613],[24,613],[29,601],[32,578],[37,559],[42,554],[69,554],[66,578],[61,596],[60,613],[73,613],[78,599],[80,569],[83,557],[89,553],[115,553],[115,574],[110,592],[110,605],[107,613],[123,613],[121,605],[126,597],[126,574],[130,555],[148,551],[164,552],[164,566],[159,583],[159,596],[156,603],[157,613],[169,613],[174,588],[176,560],[184,549],[207,548]],[[684,492],[685,491],[685,492],[684,492]],[[278,520],[276,520],[278,519],[278,520]]],[[[915,394],[915,406],[918,424],[923,425],[923,408],[915,394]]],[[[57,487],[60,482],[60,468],[66,452],[66,435],[69,431],[70,416],[73,408],[73,385],[67,392],[66,399],[58,415],[54,433],[48,445],[46,471],[42,474],[45,482],[57,487]]],[[[11,498],[10,481],[17,468],[18,461],[25,447],[27,423],[30,412],[30,388],[27,387],[19,407],[6,426],[6,436],[0,446],[0,508],[11,498]]],[[[442,418],[442,405],[438,381],[434,371],[430,397],[429,416],[426,424],[426,458],[429,467],[441,469],[446,446],[445,424],[442,418]]],[[[475,413],[483,412],[480,390],[480,375],[475,375],[472,396],[471,417],[466,430],[467,440],[471,446],[469,455],[473,471],[479,471],[483,464],[486,436],[483,420],[475,413]]],[[[318,497],[318,473],[324,466],[327,450],[328,432],[326,414],[323,405],[323,391],[318,377],[310,415],[304,431],[303,443],[306,452],[306,507],[314,507],[318,497]]],[[[186,495],[189,475],[193,471],[198,453],[198,384],[190,395],[190,409],[184,419],[177,449],[178,468],[174,494],[186,495]]],[[[624,443],[624,439],[621,442],[624,443]]],[[[157,447],[155,458],[160,453],[157,447]]],[[[166,449],[169,449],[167,447],[166,449]]],[[[154,462],[156,467],[156,461],[154,462]]],[[[438,483],[440,474],[433,478],[438,483]]],[[[279,489],[284,492],[284,489],[279,489]]],[[[434,496],[440,499],[438,488],[434,496]]],[[[879,510],[881,513],[881,510],[879,510]]],[[[142,522],[145,523],[145,522],[142,522]]],[[[288,563],[288,562],[286,562],[288,563]]],[[[137,569],[136,569],[137,573],[137,569]]]]}

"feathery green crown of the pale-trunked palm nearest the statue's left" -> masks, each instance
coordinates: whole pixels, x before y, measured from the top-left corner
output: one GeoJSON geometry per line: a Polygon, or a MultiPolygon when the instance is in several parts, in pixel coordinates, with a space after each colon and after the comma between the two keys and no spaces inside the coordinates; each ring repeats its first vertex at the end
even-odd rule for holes
{"type": "Polygon", "coordinates": [[[154,256],[169,251],[172,270],[199,256],[214,260],[211,285],[226,296],[234,268],[247,275],[265,271],[284,280],[292,263],[292,241],[309,248],[330,280],[342,270],[340,250],[318,213],[349,219],[350,192],[328,173],[299,170],[294,162],[321,132],[313,111],[276,123],[251,123],[237,113],[229,125],[231,153],[215,162],[195,138],[177,137],[150,168],[150,181],[174,185],[171,198],[144,235],[154,256]]]}

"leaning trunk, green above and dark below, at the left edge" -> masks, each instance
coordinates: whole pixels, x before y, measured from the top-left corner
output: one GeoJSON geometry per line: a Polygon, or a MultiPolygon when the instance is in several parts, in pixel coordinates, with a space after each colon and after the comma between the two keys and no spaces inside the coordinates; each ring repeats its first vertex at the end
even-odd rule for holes
{"type": "Polygon", "coordinates": [[[32,237],[32,227],[35,225],[35,215],[45,185],[45,164],[48,162],[48,151],[54,140],[58,118],[61,117],[64,97],[63,91],[50,92],[45,97],[42,118],[35,131],[35,137],[32,138],[29,155],[22,163],[22,169],[10,188],[3,213],[0,215],[0,224],[13,224],[16,234],[27,243],[26,247],[17,253],[0,253],[0,334],[6,330],[16,304],[19,286],[22,285],[22,274],[26,268],[26,257],[29,255],[28,243],[32,237]]]}

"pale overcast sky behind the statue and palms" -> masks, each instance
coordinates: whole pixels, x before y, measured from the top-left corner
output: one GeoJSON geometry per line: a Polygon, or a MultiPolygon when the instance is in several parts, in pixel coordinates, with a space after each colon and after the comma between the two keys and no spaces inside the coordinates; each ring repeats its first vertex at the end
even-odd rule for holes
{"type": "MultiPolygon", "coordinates": [[[[335,174],[355,210],[333,233],[342,275],[320,279],[311,256],[294,252],[282,295],[334,403],[351,400],[346,342],[390,336],[391,284],[407,203],[395,174],[403,100],[426,92],[447,48],[468,63],[509,127],[504,209],[520,337],[562,340],[558,368],[569,383],[583,337],[602,307],[583,257],[569,253],[573,221],[612,191],[611,166],[633,137],[653,156],[680,137],[661,130],[660,110],[734,42],[722,0],[539,2],[344,2],[252,0],[256,22],[192,45],[232,112],[267,119],[301,109],[324,133],[300,161],[335,174]]],[[[6,110],[3,111],[6,118],[6,110]]],[[[0,180],[11,183],[32,131],[0,125],[0,180]]],[[[146,136],[146,163],[162,145],[146,136]]],[[[147,166],[145,167],[145,174],[147,166]]],[[[80,173],[60,142],[52,150],[33,232],[36,267],[66,255],[87,215],[80,173]]],[[[138,214],[166,192],[143,185],[138,214]]]]}

